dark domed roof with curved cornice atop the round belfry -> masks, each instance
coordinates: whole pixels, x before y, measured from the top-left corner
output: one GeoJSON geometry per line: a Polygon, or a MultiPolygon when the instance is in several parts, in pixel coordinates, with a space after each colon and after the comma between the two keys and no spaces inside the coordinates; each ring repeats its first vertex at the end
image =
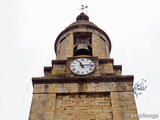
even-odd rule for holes
{"type": "Polygon", "coordinates": [[[89,28],[89,29],[93,29],[96,30],[98,32],[100,32],[101,34],[103,34],[106,38],[107,41],[109,43],[109,51],[111,51],[111,41],[109,36],[99,27],[97,27],[94,23],[89,21],[89,17],[85,14],[85,13],[80,13],[77,18],[76,18],[76,22],[73,22],[72,24],[70,24],[66,29],[64,29],[56,38],[55,41],[55,52],[57,51],[56,49],[56,45],[59,41],[59,39],[62,37],[62,35],[64,35],[65,33],[67,33],[68,31],[71,31],[73,29],[77,29],[77,28],[81,28],[81,27],[85,27],[85,28],[89,28]]]}

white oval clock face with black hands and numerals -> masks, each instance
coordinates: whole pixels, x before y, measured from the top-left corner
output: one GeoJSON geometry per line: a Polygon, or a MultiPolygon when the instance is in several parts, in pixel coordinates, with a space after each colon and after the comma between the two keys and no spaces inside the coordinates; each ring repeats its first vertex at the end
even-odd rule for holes
{"type": "Polygon", "coordinates": [[[88,58],[78,58],[70,64],[70,70],[77,75],[87,75],[93,72],[95,64],[88,58]]]}

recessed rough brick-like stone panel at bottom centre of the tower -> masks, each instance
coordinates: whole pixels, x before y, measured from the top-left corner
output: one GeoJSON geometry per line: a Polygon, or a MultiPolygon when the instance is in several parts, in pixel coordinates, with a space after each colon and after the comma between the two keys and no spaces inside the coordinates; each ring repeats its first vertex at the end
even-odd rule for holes
{"type": "Polygon", "coordinates": [[[57,95],[55,120],[112,120],[109,94],[57,95]]]}

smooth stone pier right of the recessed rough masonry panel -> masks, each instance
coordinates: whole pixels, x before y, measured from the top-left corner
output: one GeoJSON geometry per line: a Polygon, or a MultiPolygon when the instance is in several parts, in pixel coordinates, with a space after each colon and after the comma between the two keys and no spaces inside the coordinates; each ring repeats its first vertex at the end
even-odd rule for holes
{"type": "Polygon", "coordinates": [[[111,92],[113,120],[138,120],[133,92],[111,92]]]}

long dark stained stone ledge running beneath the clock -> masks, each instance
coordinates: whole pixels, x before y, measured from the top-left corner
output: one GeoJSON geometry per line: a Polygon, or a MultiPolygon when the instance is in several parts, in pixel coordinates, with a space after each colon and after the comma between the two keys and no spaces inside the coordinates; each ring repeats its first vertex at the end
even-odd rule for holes
{"type": "Polygon", "coordinates": [[[77,76],[77,77],[34,77],[32,78],[32,83],[34,84],[44,84],[44,83],[87,83],[87,82],[132,82],[133,83],[134,76],[133,75],[122,75],[122,76],[77,76]]]}

